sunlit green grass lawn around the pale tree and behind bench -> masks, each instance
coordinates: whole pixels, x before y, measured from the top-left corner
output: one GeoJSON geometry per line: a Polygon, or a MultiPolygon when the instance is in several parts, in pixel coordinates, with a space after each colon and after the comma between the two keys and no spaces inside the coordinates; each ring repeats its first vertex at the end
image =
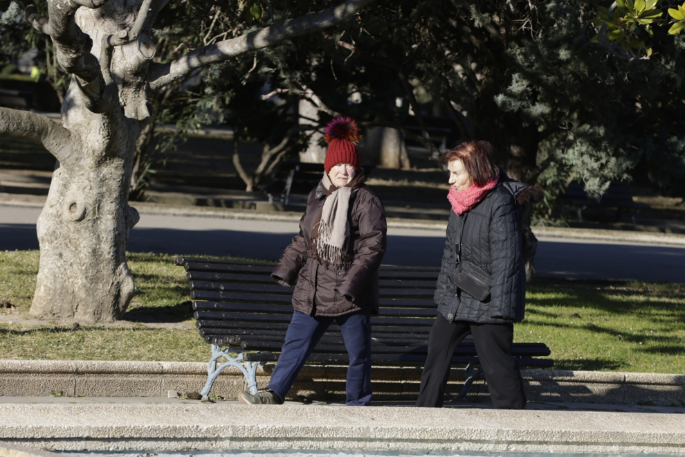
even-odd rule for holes
{"type": "MultiPolygon", "coordinates": [[[[185,271],[174,256],[129,253],[136,296],[125,321],[74,329],[30,319],[38,251],[0,252],[3,359],[207,361],[185,271]]],[[[536,280],[515,341],[541,341],[560,370],[682,373],[685,284],[536,280]]]]}

